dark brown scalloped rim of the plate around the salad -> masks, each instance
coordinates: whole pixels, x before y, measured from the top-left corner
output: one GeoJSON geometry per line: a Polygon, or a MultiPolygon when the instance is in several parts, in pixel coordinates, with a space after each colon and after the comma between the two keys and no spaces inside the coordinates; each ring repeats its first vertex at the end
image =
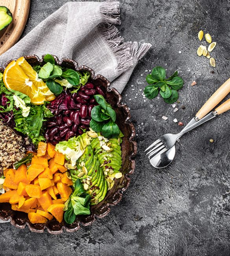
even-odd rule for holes
{"type": "MultiPolygon", "coordinates": [[[[44,56],[43,56],[44,57],[44,56]]],[[[35,55],[25,56],[26,60],[33,66],[37,64],[44,65],[44,61],[39,59],[35,55]]],[[[31,224],[28,220],[27,213],[23,213],[20,211],[11,210],[11,205],[8,203],[0,204],[0,219],[3,221],[10,220],[11,224],[18,227],[24,228],[28,225],[29,229],[33,232],[44,232],[45,229],[48,230],[51,234],[60,234],[65,229],[68,232],[74,232],[80,228],[80,224],[83,226],[88,226],[92,224],[96,218],[105,217],[110,212],[110,206],[114,206],[120,202],[122,198],[123,191],[127,189],[129,186],[130,178],[129,175],[133,173],[135,167],[134,157],[137,151],[137,145],[134,141],[135,137],[135,128],[130,121],[130,112],[126,105],[121,104],[121,95],[114,88],[109,88],[110,82],[101,75],[95,75],[94,70],[86,67],[86,66],[78,66],[77,62],[72,59],[59,59],[56,56],[53,56],[58,65],[62,67],[68,67],[74,70],[87,70],[91,74],[92,80],[94,80],[94,84],[100,85],[106,91],[106,99],[112,105],[117,113],[117,123],[118,126],[123,132],[124,137],[121,144],[122,150],[122,167],[121,173],[123,173],[123,177],[119,180],[116,180],[114,186],[111,190],[108,191],[105,199],[100,202],[98,205],[91,207],[90,215],[81,215],[77,216],[75,222],[73,224],[67,224],[63,221],[63,223],[58,223],[56,220],[48,221],[46,224],[31,224]]],[[[8,61],[5,66],[9,64],[12,60],[8,61]]],[[[0,68],[3,72],[4,69],[0,68]]]]}

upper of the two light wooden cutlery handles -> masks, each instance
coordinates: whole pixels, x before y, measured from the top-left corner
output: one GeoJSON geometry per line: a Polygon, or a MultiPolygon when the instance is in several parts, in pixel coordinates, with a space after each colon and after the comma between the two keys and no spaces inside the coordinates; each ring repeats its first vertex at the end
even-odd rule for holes
{"type": "Polygon", "coordinates": [[[224,82],[223,85],[221,85],[221,87],[219,87],[219,89],[217,89],[215,93],[213,93],[213,95],[204,103],[202,108],[197,112],[196,117],[201,119],[207,115],[219,102],[221,102],[221,100],[223,100],[226,95],[228,95],[228,93],[230,93],[230,78],[224,82]]]}

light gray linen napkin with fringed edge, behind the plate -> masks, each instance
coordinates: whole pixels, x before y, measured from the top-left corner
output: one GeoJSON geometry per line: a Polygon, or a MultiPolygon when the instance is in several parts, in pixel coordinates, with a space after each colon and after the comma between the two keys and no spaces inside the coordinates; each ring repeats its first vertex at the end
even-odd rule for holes
{"type": "MultiPolygon", "coordinates": [[[[149,43],[124,42],[119,2],[68,2],[0,56],[0,66],[28,54],[70,58],[105,76],[121,92],[149,43]]],[[[1,221],[0,221],[1,222],[1,221]]]]}

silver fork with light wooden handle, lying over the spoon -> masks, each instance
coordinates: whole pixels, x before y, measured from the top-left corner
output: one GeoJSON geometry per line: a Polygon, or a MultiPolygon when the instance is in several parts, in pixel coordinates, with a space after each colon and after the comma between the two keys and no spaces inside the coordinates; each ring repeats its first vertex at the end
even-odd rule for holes
{"type": "MultiPolygon", "coordinates": [[[[147,156],[150,158],[153,158],[154,156],[157,156],[159,154],[164,153],[166,150],[168,150],[169,148],[173,147],[177,141],[178,138],[180,138],[183,134],[185,134],[186,132],[192,130],[193,128],[199,126],[200,124],[210,120],[210,114],[208,115],[209,119],[206,120],[204,119],[204,116],[210,112],[219,102],[221,102],[221,100],[223,100],[223,98],[230,92],[230,78],[223,83],[223,85],[221,85],[221,87],[219,87],[219,89],[217,89],[215,91],[215,93],[213,93],[213,95],[205,102],[205,104],[202,106],[202,108],[197,112],[197,114],[195,115],[195,117],[193,119],[191,119],[191,121],[187,124],[187,126],[178,134],[165,134],[163,136],[161,136],[159,139],[157,139],[154,143],[152,143],[149,147],[147,147],[145,149],[145,152],[147,150],[149,150],[147,152],[147,156]],[[204,122],[201,122],[202,120],[200,119],[204,119],[204,122]],[[196,125],[196,122],[199,121],[198,125],[196,125]]],[[[224,109],[224,112],[228,110],[228,100],[226,102],[224,102],[221,106],[219,106],[218,108],[224,109]]],[[[217,109],[218,109],[217,108],[217,109]]],[[[219,114],[217,113],[217,109],[215,109],[215,111],[213,111],[213,117],[215,117],[215,115],[219,114]]],[[[223,111],[221,112],[223,113],[223,111]]]]}

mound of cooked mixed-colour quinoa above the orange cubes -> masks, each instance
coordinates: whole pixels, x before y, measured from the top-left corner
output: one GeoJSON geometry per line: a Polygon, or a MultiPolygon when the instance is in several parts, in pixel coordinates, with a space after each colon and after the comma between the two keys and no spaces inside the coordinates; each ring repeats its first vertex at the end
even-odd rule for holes
{"type": "Polygon", "coordinates": [[[21,160],[25,154],[23,139],[0,122],[0,172],[21,160]]]}

